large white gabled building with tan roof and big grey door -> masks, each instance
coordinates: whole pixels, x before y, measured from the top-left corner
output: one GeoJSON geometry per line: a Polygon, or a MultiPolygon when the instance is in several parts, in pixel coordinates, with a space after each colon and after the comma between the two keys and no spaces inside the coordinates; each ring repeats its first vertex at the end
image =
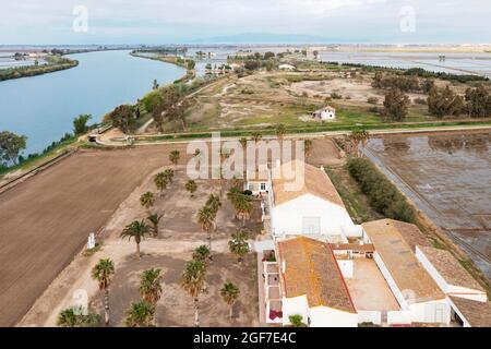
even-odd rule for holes
{"type": "Polygon", "coordinates": [[[272,182],[274,237],[300,234],[333,243],[361,237],[323,169],[295,160],[273,169],[272,182]]]}

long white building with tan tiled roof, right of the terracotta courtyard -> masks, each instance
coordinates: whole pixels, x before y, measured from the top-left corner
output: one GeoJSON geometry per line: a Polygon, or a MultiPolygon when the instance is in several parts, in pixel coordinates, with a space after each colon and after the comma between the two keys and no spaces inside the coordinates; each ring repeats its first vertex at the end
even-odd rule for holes
{"type": "Polygon", "coordinates": [[[373,258],[402,308],[387,313],[387,323],[450,324],[451,306],[446,296],[405,241],[400,226],[383,219],[362,227],[364,242],[374,245],[373,258]]]}

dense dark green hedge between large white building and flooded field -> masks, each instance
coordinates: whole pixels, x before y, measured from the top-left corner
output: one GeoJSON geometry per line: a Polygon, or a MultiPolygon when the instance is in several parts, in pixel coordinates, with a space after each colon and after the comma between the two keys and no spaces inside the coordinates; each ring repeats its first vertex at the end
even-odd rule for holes
{"type": "Polygon", "coordinates": [[[416,213],[406,197],[376,167],[366,158],[350,158],[349,173],[360,183],[371,205],[385,217],[414,222],[416,213]]]}

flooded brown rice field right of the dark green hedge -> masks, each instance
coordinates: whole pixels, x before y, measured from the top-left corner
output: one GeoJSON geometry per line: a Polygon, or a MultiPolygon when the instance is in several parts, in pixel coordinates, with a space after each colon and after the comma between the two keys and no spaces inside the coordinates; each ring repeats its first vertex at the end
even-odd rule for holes
{"type": "Polygon", "coordinates": [[[491,278],[491,132],[374,139],[366,153],[491,278]]]}

